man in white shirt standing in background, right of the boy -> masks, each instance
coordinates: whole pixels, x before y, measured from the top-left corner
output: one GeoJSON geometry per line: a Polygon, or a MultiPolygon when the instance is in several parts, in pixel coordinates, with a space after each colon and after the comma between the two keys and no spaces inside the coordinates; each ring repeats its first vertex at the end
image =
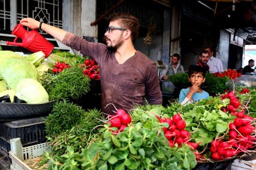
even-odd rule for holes
{"type": "Polygon", "coordinates": [[[222,61],[221,61],[221,59],[215,58],[213,56],[213,48],[207,46],[205,48],[205,51],[208,51],[209,52],[209,56],[210,56],[209,61],[207,63],[207,65],[209,65],[209,72],[210,73],[223,72],[224,70],[223,70],[222,61]]]}

